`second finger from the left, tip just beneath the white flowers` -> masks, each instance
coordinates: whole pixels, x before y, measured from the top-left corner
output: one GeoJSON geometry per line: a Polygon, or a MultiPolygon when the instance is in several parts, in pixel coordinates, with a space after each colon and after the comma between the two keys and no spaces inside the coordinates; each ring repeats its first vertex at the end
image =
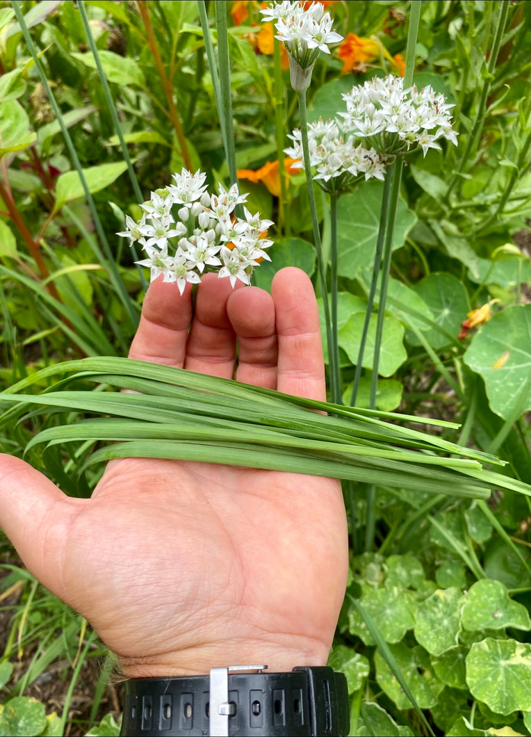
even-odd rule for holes
{"type": "Polygon", "coordinates": [[[227,300],[232,292],[229,279],[219,279],[215,274],[205,274],[201,279],[186,345],[184,367],[190,371],[233,377],[236,335],[227,315],[227,300]]]}

